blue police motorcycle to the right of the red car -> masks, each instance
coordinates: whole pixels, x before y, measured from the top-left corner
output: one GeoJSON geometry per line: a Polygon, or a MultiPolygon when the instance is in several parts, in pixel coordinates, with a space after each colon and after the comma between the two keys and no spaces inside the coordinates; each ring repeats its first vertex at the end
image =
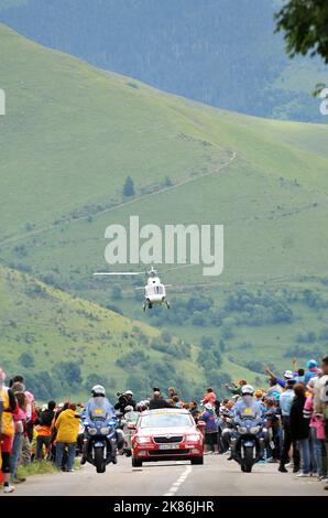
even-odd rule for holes
{"type": "Polygon", "coordinates": [[[234,423],[236,433],[231,440],[232,458],[241,471],[251,473],[253,465],[264,454],[263,422],[244,418],[234,423]]]}

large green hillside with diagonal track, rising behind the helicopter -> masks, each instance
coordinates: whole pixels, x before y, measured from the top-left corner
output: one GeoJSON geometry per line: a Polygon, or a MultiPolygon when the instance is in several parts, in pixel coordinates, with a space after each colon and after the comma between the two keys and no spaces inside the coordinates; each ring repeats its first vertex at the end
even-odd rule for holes
{"type": "Polygon", "coordinates": [[[198,382],[209,381],[208,371],[215,375],[210,355],[203,361],[206,373],[196,364],[207,335],[212,349],[225,342],[221,371],[248,373],[253,380],[259,365],[250,374],[251,360],[281,369],[289,367],[295,344],[303,347],[302,361],[310,347],[321,353],[327,125],[217,110],[96,69],[3,25],[0,77],[8,102],[0,118],[3,265],[174,331],[176,339],[193,344],[192,361],[177,370],[188,379],[197,373],[198,382]],[[132,198],[122,194],[128,175],[135,185],[132,198]],[[223,274],[204,278],[198,267],[167,274],[165,282],[178,283],[170,292],[170,314],[143,315],[130,281],[122,281],[118,299],[117,282],[95,280],[92,271],[107,268],[106,227],[127,225],[131,214],[160,226],[223,224],[223,274]],[[209,285],[203,291],[198,283],[209,285]],[[240,294],[241,284],[247,294],[240,294]],[[211,302],[190,303],[195,293],[211,302]],[[237,310],[230,295],[242,300],[237,310]],[[310,331],[315,341],[304,336],[310,331]]]}

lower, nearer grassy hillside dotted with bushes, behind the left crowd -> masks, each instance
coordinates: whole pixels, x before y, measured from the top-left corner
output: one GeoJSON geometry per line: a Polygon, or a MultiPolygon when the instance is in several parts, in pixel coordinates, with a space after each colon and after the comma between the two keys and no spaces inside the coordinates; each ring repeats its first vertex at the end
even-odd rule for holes
{"type": "Polygon", "coordinates": [[[146,397],[158,384],[195,397],[207,382],[198,346],[3,267],[0,315],[1,366],[22,373],[40,399],[83,398],[99,381],[112,397],[127,386],[146,397]]]}

